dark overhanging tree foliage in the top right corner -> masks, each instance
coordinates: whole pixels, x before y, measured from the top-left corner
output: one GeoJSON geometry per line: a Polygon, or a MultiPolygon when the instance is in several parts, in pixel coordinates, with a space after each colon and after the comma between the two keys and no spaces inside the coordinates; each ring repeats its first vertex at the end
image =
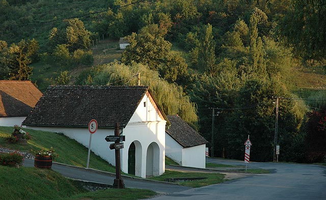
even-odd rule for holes
{"type": "Polygon", "coordinates": [[[326,58],[326,5],[322,0],[291,1],[291,7],[280,21],[279,34],[295,55],[302,58],[326,58]]]}

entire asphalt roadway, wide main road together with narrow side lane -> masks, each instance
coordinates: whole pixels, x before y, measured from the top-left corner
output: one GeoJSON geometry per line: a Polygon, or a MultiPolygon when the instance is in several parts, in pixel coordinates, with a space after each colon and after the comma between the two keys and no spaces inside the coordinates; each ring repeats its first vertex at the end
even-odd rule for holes
{"type": "MultiPolygon", "coordinates": [[[[243,161],[209,159],[210,163],[244,166],[243,161]]],[[[33,166],[34,161],[25,159],[24,166],[33,166]]],[[[263,168],[273,171],[270,174],[243,176],[223,184],[188,188],[174,184],[148,182],[123,178],[126,187],[150,189],[164,195],[152,200],[215,200],[215,199],[326,199],[326,167],[307,164],[255,163],[249,168],[263,168]]],[[[115,176],[89,171],[84,168],[53,163],[52,169],[65,177],[105,184],[113,184],[115,176]]]]}

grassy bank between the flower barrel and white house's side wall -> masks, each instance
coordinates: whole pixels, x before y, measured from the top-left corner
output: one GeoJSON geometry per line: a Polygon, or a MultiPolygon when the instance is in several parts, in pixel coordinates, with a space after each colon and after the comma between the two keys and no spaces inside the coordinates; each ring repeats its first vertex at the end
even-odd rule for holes
{"type": "MultiPolygon", "coordinates": [[[[79,144],[76,140],[58,133],[32,129],[23,130],[29,132],[32,136],[32,139],[28,141],[28,144],[9,144],[6,142],[5,138],[11,135],[13,128],[0,127],[0,146],[10,149],[19,149],[21,152],[28,152],[30,154],[33,154],[31,149],[37,151],[41,148],[49,149],[52,146],[59,155],[56,162],[78,167],[86,167],[88,149],[82,144],[79,144]]],[[[114,166],[107,163],[99,156],[96,156],[93,152],[90,155],[89,167],[109,172],[116,171],[114,166]]]]}

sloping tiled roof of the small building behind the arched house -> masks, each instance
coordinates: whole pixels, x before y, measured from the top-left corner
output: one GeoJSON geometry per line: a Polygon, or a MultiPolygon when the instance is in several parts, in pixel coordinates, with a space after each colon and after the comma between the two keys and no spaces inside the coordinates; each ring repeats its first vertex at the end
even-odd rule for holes
{"type": "Polygon", "coordinates": [[[183,121],[178,115],[168,115],[171,123],[170,129],[166,132],[181,146],[192,147],[206,144],[207,140],[195,131],[187,122],[183,121]]]}

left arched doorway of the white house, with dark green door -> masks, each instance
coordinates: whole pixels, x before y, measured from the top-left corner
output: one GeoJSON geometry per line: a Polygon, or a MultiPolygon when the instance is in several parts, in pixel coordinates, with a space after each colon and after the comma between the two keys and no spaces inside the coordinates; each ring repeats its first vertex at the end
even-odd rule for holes
{"type": "Polygon", "coordinates": [[[129,145],[128,173],[138,177],[142,176],[142,145],[137,140],[129,145]]]}

